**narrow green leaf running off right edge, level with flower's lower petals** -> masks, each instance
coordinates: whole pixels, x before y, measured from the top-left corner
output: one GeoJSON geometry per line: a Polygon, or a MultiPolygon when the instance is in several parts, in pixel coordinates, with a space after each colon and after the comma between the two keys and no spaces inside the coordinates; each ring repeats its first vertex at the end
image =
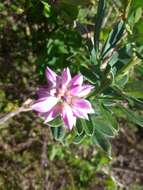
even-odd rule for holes
{"type": "Polygon", "coordinates": [[[119,107],[120,107],[120,110],[122,111],[122,113],[124,113],[130,121],[143,127],[143,116],[138,115],[137,113],[135,113],[123,106],[119,106],[119,107]]]}

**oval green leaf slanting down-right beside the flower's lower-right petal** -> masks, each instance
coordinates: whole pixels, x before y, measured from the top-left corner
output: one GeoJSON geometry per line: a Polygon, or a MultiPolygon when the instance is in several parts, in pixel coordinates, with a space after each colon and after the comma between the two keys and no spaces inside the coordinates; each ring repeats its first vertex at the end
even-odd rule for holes
{"type": "Polygon", "coordinates": [[[103,119],[109,123],[114,130],[118,131],[118,123],[113,113],[111,113],[103,104],[100,104],[100,111],[103,119]]]}

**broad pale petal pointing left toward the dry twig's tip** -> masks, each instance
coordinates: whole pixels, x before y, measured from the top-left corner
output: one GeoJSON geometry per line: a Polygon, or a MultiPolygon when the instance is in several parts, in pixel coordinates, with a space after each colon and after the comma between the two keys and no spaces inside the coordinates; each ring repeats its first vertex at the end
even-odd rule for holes
{"type": "Polygon", "coordinates": [[[57,102],[58,98],[52,96],[40,98],[31,106],[31,108],[35,111],[45,113],[51,110],[51,108],[55,106],[57,102]]]}

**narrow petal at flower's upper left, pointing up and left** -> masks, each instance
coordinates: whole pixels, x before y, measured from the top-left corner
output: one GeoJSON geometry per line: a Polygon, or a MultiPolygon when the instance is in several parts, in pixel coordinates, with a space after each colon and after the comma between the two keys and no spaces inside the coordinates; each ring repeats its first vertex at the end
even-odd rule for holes
{"type": "Polygon", "coordinates": [[[47,80],[50,81],[50,84],[56,84],[57,74],[54,71],[52,71],[49,67],[46,68],[45,75],[47,80]]]}

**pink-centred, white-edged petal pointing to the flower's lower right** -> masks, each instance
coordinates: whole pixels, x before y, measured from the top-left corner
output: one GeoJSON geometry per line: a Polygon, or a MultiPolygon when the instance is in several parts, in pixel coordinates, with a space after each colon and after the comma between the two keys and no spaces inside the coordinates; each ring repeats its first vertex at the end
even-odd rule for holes
{"type": "Polygon", "coordinates": [[[94,113],[91,103],[82,98],[75,98],[72,101],[72,107],[76,110],[82,111],[83,113],[94,113]]]}

